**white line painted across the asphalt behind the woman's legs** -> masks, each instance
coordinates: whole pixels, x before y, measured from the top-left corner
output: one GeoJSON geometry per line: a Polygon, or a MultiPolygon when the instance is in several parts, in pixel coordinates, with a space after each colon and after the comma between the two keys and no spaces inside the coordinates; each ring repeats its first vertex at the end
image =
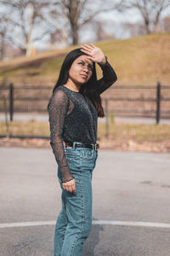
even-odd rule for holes
{"type": "MultiPolygon", "coordinates": [[[[56,224],[55,220],[4,223],[4,224],[0,224],[0,229],[14,228],[14,227],[54,225],[54,224],[56,224]]],[[[156,222],[93,220],[92,224],[95,224],[95,225],[119,225],[119,226],[141,226],[141,227],[170,229],[170,224],[156,223],[156,222]]]]}

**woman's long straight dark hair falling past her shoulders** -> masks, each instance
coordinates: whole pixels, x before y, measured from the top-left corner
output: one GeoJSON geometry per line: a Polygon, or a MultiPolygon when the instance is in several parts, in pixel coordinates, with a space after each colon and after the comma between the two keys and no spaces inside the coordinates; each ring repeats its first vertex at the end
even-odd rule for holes
{"type": "MultiPolygon", "coordinates": [[[[80,55],[86,55],[81,51],[81,48],[73,49],[71,52],[66,55],[65,60],[60,68],[59,72],[59,79],[57,80],[56,84],[54,85],[54,90],[59,87],[59,85],[65,84],[69,78],[69,70],[71,68],[72,62],[77,59],[80,55]]],[[[93,61],[93,72],[91,78],[88,80],[87,83],[81,84],[80,92],[84,96],[85,100],[87,101],[87,96],[94,104],[94,108],[96,108],[99,117],[105,117],[104,109],[101,104],[101,97],[96,92],[97,87],[97,76],[96,76],[96,69],[95,69],[95,62],[93,61]]]]}

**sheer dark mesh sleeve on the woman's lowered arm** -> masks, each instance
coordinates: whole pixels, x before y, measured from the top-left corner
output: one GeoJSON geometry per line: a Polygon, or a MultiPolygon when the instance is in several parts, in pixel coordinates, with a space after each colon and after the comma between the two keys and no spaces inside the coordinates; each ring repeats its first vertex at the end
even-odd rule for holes
{"type": "Polygon", "coordinates": [[[72,177],[65,157],[62,132],[69,99],[63,90],[55,90],[48,102],[48,121],[50,126],[50,145],[53,148],[55,160],[61,171],[62,182],[67,182],[72,177]]]}

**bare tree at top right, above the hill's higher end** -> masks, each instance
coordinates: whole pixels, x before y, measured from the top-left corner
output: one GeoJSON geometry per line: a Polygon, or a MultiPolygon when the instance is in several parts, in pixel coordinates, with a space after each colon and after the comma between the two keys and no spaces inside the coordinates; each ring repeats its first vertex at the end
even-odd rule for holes
{"type": "Polygon", "coordinates": [[[170,0],[129,0],[123,4],[127,9],[138,9],[144,20],[145,32],[155,32],[162,12],[170,6],[170,0]]]}

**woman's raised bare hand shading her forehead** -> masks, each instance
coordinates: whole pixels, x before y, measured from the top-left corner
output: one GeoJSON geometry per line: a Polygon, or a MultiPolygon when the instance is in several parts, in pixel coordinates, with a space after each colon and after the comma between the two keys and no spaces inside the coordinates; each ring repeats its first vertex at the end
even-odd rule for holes
{"type": "Polygon", "coordinates": [[[89,55],[87,57],[88,59],[100,64],[105,64],[105,55],[103,51],[94,44],[82,44],[81,50],[85,54],[89,55]]]}

